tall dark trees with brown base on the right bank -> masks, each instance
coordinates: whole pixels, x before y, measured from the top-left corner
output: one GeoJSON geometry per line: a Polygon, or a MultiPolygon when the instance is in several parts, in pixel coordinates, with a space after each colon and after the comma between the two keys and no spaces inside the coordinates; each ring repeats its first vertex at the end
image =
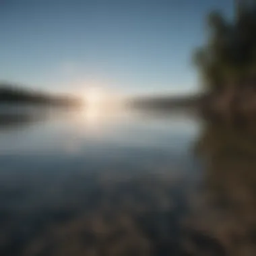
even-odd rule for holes
{"type": "Polygon", "coordinates": [[[256,110],[256,1],[234,7],[230,20],[220,11],[208,15],[208,38],[193,55],[204,90],[217,95],[212,108],[229,115],[256,110]]]}

